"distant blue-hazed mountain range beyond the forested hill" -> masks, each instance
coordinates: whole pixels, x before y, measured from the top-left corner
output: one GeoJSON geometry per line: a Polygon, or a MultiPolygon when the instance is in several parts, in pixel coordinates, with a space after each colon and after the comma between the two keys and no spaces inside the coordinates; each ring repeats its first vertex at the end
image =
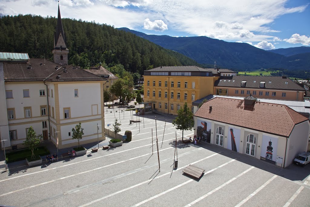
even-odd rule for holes
{"type": "Polygon", "coordinates": [[[248,43],[232,43],[199,37],[170,37],[148,35],[128,28],[118,28],[147,39],[166,49],[179,52],[202,65],[210,67],[214,62],[219,67],[235,70],[260,68],[285,68],[310,70],[310,47],[263,50],[248,43]]]}

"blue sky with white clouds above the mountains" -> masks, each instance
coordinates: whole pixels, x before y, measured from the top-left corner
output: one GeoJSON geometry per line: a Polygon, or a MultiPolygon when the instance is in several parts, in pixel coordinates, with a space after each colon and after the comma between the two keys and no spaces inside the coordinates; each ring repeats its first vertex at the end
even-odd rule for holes
{"type": "MultiPolygon", "coordinates": [[[[264,50],[310,46],[310,0],[60,0],[62,18],[264,50]]],[[[56,16],[56,0],[0,0],[0,15],[56,16]]]]}

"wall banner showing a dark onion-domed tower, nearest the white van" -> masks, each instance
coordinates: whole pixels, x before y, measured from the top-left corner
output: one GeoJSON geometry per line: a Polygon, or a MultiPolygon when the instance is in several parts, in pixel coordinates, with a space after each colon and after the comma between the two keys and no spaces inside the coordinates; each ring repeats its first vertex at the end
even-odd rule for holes
{"type": "Polygon", "coordinates": [[[263,136],[261,160],[276,164],[277,161],[278,138],[263,136]]]}

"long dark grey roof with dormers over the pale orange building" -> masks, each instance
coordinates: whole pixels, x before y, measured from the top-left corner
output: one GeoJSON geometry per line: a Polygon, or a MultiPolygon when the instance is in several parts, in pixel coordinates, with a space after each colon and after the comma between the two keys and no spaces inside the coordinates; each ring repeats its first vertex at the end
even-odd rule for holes
{"type": "Polygon", "coordinates": [[[219,87],[234,87],[234,88],[260,88],[259,83],[263,81],[266,89],[282,89],[282,90],[298,90],[305,91],[305,89],[299,86],[297,83],[289,78],[282,78],[279,76],[221,76],[215,81],[214,86],[219,87]],[[223,81],[231,80],[231,81],[223,81]],[[241,87],[241,82],[246,81],[246,87],[241,87]],[[255,83],[254,83],[255,81],[255,83]],[[269,83],[271,81],[271,83],[269,83]],[[287,82],[287,84],[285,84],[287,82]]]}

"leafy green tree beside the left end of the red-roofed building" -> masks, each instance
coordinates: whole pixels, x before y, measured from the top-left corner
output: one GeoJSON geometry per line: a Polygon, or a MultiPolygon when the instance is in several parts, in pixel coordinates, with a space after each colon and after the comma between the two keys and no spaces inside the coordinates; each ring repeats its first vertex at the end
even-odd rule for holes
{"type": "Polygon", "coordinates": [[[193,113],[187,106],[185,102],[184,107],[178,110],[178,116],[172,120],[172,124],[176,129],[182,130],[182,141],[184,130],[192,130],[194,128],[193,113]]]}

